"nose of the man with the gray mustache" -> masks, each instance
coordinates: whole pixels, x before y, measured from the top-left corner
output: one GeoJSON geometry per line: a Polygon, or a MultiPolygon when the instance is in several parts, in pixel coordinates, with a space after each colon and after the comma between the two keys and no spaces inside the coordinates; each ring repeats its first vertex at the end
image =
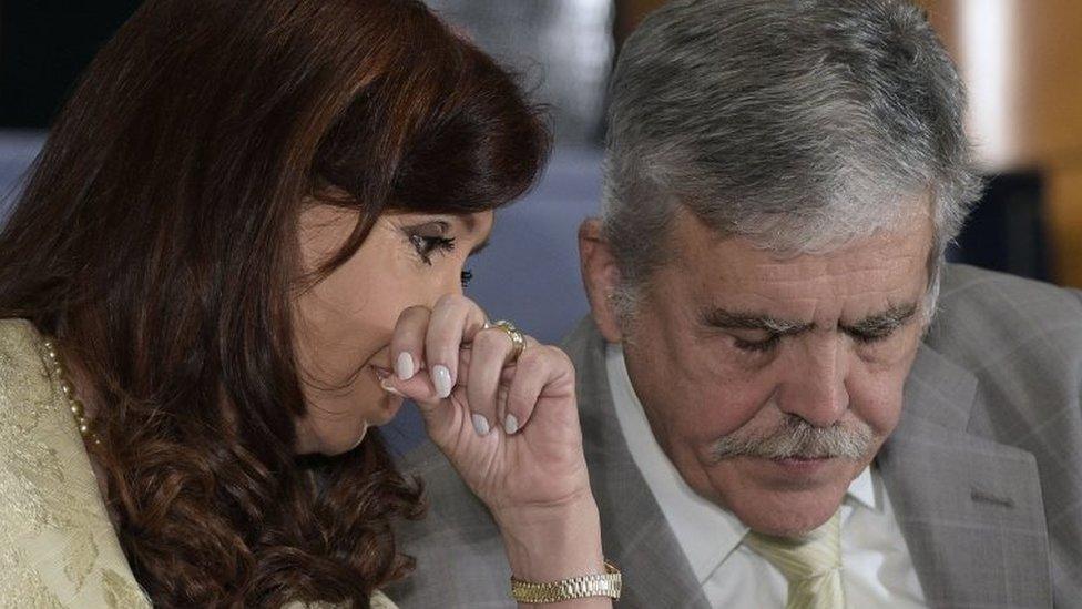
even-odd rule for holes
{"type": "Polygon", "coordinates": [[[829,427],[849,407],[848,359],[836,336],[807,338],[792,355],[778,390],[778,407],[816,427],[829,427]]]}

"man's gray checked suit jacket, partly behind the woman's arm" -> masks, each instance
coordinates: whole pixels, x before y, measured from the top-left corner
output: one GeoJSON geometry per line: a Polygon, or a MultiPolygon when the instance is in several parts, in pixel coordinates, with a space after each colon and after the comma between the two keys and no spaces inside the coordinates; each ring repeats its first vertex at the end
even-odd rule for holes
{"type": "MultiPolygon", "coordinates": [[[[605,345],[584,321],[564,348],[579,377],[585,454],[620,607],[708,605],[613,412],[605,345]]],[[[933,607],[1082,607],[1082,293],[949,267],[940,313],[878,464],[933,607]]],[[[404,608],[509,607],[502,542],[432,447],[406,467],[426,520],[401,531],[417,574],[404,608]]]]}

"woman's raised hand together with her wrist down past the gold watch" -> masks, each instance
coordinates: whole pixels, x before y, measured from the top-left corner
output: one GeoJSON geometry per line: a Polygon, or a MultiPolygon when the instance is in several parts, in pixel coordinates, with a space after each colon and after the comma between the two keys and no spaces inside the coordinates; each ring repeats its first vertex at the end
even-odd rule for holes
{"type": "Polygon", "coordinates": [[[574,368],[557,347],[524,343],[516,356],[509,332],[476,303],[445,296],[402,312],[391,339],[396,377],[384,387],[417,403],[429,436],[491,510],[517,577],[603,572],[574,368]]]}

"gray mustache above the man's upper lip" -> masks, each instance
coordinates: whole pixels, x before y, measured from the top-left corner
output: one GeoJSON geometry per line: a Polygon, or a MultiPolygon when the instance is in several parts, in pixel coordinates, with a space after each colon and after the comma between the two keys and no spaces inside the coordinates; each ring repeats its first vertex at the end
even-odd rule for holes
{"type": "Polygon", "coordinates": [[[774,429],[754,436],[732,434],[718,438],[712,455],[716,461],[734,457],[763,459],[843,457],[859,459],[868,454],[875,435],[867,424],[816,427],[795,415],[774,429]]]}

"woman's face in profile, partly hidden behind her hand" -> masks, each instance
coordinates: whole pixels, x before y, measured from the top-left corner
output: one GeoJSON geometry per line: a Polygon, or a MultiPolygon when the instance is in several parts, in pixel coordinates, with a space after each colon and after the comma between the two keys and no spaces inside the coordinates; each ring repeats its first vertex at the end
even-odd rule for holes
{"type": "MultiPolygon", "coordinates": [[[[357,224],[357,212],[314,205],[300,219],[303,270],[333,256],[357,224]]],[[[461,293],[466,260],[492,230],[493,213],[385,213],[360,250],[324,281],[297,295],[294,318],[307,405],[297,451],[336,455],[357,446],[369,425],[389,422],[401,398],[379,382],[390,376],[398,315],[461,293]]]]}

